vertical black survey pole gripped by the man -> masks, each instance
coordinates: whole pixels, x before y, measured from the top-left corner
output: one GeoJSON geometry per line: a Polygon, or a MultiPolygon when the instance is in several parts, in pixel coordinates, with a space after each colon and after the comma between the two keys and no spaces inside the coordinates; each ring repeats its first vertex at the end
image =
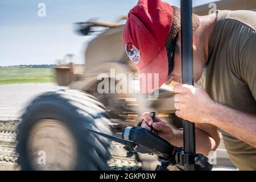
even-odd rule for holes
{"type": "MultiPolygon", "coordinates": [[[[193,85],[193,30],[192,30],[192,0],[180,0],[181,9],[181,63],[182,83],[193,85]]],[[[185,154],[195,154],[195,124],[183,120],[183,144],[185,154]]],[[[195,162],[190,160],[185,164],[186,171],[195,170],[195,162]]]]}

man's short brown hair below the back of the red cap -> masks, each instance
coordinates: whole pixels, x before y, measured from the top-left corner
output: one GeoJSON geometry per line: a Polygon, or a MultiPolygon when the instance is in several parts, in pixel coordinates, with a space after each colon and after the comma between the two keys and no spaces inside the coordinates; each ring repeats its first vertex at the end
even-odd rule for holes
{"type": "MultiPolygon", "coordinates": [[[[171,44],[177,35],[177,33],[180,31],[181,27],[181,20],[180,20],[180,9],[176,6],[172,6],[172,9],[174,10],[174,18],[172,20],[172,27],[171,31],[169,32],[169,35],[166,40],[166,49],[167,51],[170,49],[171,44]]],[[[196,30],[197,27],[199,27],[199,16],[196,14],[192,14],[192,24],[193,24],[193,30],[196,30]]]]}

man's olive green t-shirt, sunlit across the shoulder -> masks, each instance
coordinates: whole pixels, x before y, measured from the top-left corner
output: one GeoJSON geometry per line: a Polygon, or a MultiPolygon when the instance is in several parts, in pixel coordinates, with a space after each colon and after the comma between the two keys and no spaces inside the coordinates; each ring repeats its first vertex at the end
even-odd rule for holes
{"type": "MultiPolygon", "coordinates": [[[[256,12],[216,13],[209,59],[198,84],[214,101],[256,115],[256,12]]],[[[256,148],[219,131],[234,165],[240,170],[256,170],[256,148]]]]}

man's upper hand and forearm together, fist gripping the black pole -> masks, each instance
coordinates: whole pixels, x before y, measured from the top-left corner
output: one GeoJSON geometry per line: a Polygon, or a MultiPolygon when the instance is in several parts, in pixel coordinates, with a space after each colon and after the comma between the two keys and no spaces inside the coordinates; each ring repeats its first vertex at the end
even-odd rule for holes
{"type": "Polygon", "coordinates": [[[208,123],[256,147],[256,116],[213,101],[201,86],[175,85],[177,117],[194,123],[208,123]]]}

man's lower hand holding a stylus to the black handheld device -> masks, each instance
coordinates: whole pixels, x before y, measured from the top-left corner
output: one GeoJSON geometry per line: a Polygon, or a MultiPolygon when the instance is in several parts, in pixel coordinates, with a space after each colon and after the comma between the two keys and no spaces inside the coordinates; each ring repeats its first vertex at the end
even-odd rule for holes
{"type": "Polygon", "coordinates": [[[153,123],[152,115],[150,113],[143,113],[142,118],[144,121],[142,122],[141,127],[150,130],[150,126],[152,126],[156,135],[159,135],[170,143],[175,141],[174,131],[172,131],[171,127],[165,121],[155,117],[153,123]]]}

